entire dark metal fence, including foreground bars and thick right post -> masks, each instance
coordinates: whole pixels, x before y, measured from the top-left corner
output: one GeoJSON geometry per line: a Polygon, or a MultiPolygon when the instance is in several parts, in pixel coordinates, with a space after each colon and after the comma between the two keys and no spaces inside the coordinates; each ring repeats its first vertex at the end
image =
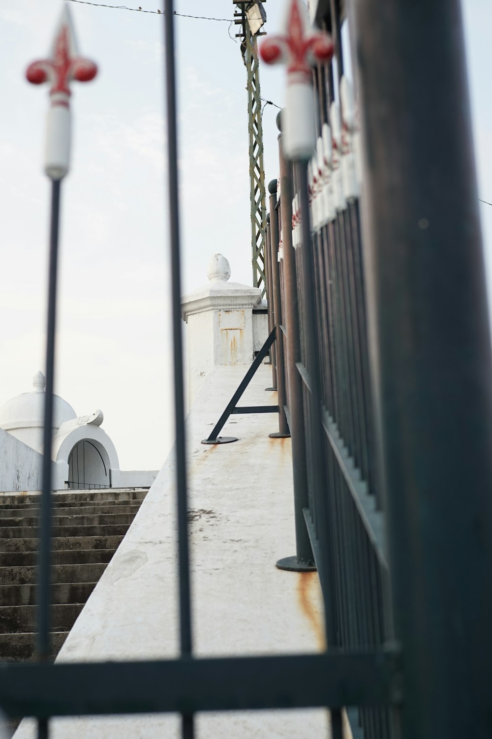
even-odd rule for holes
{"type": "MultiPolygon", "coordinates": [[[[38,718],[40,738],[56,715],[177,712],[191,739],[196,712],[314,706],[331,709],[334,739],[344,708],[370,738],[490,735],[492,359],[459,0],[346,3],[360,146],[338,3],[317,7],[335,40],[338,85],[331,65],[316,69],[311,192],[308,163],[292,171],[281,155],[266,261],[273,385],[295,488],[297,551],[279,566],[315,560],[329,648],[194,656],[174,16],[165,0],[180,658],[2,665],[1,708],[38,718]]],[[[49,498],[48,488],[47,555],[49,498]]],[[[42,658],[49,556],[40,572],[42,658]]]]}

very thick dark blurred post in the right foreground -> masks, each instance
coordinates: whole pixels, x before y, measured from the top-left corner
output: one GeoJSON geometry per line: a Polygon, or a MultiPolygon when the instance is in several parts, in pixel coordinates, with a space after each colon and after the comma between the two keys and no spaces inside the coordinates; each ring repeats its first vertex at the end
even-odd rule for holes
{"type": "Polygon", "coordinates": [[[492,360],[459,0],[354,2],[404,739],[491,732],[492,360]]]}

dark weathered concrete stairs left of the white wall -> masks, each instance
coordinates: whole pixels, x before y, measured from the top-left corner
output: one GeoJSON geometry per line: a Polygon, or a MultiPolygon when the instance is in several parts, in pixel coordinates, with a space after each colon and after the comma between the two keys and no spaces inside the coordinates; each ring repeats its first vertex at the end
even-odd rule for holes
{"type": "MultiPolygon", "coordinates": [[[[146,490],[53,495],[52,658],[126,534],[146,490]]],[[[0,662],[35,653],[39,494],[0,495],[0,662]]]]}

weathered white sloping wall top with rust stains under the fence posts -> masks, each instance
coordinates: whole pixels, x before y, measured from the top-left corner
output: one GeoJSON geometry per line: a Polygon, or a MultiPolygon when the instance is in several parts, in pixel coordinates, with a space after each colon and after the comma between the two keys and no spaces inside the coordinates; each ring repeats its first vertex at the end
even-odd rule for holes
{"type": "MultiPolygon", "coordinates": [[[[273,440],[276,415],[235,415],[223,435],[200,443],[229,401],[244,367],[205,380],[187,421],[194,647],[197,655],[298,653],[324,645],[315,574],[276,569],[295,552],[290,440],[273,440]]],[[[260,367],[242,404],[276,402],[260,367]]],[[[174,453],[69,633],[58,661],[174,657],[178,653],[174,453]]],[[[177,739],[171,716],[69,718],[52,739],[177,739]]],[[[327,712],[242,712],[197,717],[200,739],[311,739],[328,735],[327,712]]],[[[16,739],[35,736],[24,721],[16,739]]]]}

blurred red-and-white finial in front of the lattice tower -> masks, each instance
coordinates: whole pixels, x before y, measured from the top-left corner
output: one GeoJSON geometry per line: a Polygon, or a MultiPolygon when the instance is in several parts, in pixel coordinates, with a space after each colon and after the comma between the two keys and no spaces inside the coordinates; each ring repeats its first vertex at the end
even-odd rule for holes
{"type": "Polygon", "coordinates": [[[311,27],[303,0],[287,0],[284,33],[267,38],[260,55],[267,64],[287,64],[284,151],[289,159],[309,160],[316,146],[312,65],[332,58],[332,39],[311,27]]]}

